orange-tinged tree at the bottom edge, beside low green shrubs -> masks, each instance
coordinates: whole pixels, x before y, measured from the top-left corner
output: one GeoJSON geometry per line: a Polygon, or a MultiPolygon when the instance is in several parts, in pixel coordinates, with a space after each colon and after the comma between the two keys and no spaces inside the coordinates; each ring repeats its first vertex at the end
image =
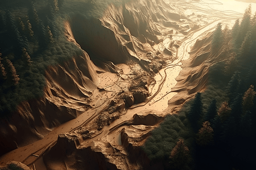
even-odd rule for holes
{"type": "Polygon", "coordinates": [[[170,163],[174,169],[182,169],[187,164],[189,158],[189,149],[184,145],[184,140],[179,139],[176,146],[172,149],[170,163]]]}

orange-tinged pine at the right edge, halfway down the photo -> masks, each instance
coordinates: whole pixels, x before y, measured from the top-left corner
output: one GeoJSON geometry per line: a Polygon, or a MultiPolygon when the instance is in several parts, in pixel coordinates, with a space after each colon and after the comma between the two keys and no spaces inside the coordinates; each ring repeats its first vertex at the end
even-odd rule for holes
{"type": "Polygon", "coordinates": [[[255,95],[256,95],[256,92],[254,91],[254,86],[251,85],[243,95],[243,102],[242,102],[243,113],[245,113],[246,111],[249,111],[249,109],[253,106],[253,99],[255,95]]]}

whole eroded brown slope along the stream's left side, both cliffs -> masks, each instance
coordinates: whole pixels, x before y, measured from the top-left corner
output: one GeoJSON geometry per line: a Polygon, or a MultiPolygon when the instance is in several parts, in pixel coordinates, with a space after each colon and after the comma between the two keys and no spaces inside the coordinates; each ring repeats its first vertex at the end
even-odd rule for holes
{"type": "Polygon", "coordinates": [[[1,120],[1,155],[42,139],[56,126],[91,108],[90,96],[99,83],[97,73],[114,71],[106,62],[133,61],[154,75],[176,51],[174,43],[163,47],[163,36],[178,31],[183,35],[195,26],[162,0],[109,6],[101,19],[88,20],[77,14],[64,24],[67,40],[78,42],[90,56],[84,52],[63,65],[49,67],[44,96],[23,102],[13,117],[1,120]],[[184,24],[186,21],[189,24],[184,24]]]}

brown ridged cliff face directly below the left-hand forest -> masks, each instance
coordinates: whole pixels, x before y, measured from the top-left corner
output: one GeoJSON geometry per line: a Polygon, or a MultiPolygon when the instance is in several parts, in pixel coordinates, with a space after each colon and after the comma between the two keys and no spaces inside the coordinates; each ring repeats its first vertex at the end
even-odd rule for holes
{"type": "MultiPolygon", "coordinates": [[[[65,26],[67,39],[75,42],[69,24],[65,26]]],[[[0,154],[42,139],[90,108],[89,97],[98,84],[96,70],[86,52],[63,65],[48,67],[44,96],[24,101],[12,117],[0,120],[0,154]]]]}

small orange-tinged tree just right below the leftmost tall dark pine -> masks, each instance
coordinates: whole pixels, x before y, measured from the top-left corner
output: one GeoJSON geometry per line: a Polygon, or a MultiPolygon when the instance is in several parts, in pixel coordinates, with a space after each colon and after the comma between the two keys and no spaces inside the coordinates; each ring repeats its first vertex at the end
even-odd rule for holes
{"type": "Polygon", "coordinates": [[[207,146],[213,143],[213,129],[210,127],[210,122],[203,122],[203,127],[199,129],[196,142],[200,146],[207,146]]]}

